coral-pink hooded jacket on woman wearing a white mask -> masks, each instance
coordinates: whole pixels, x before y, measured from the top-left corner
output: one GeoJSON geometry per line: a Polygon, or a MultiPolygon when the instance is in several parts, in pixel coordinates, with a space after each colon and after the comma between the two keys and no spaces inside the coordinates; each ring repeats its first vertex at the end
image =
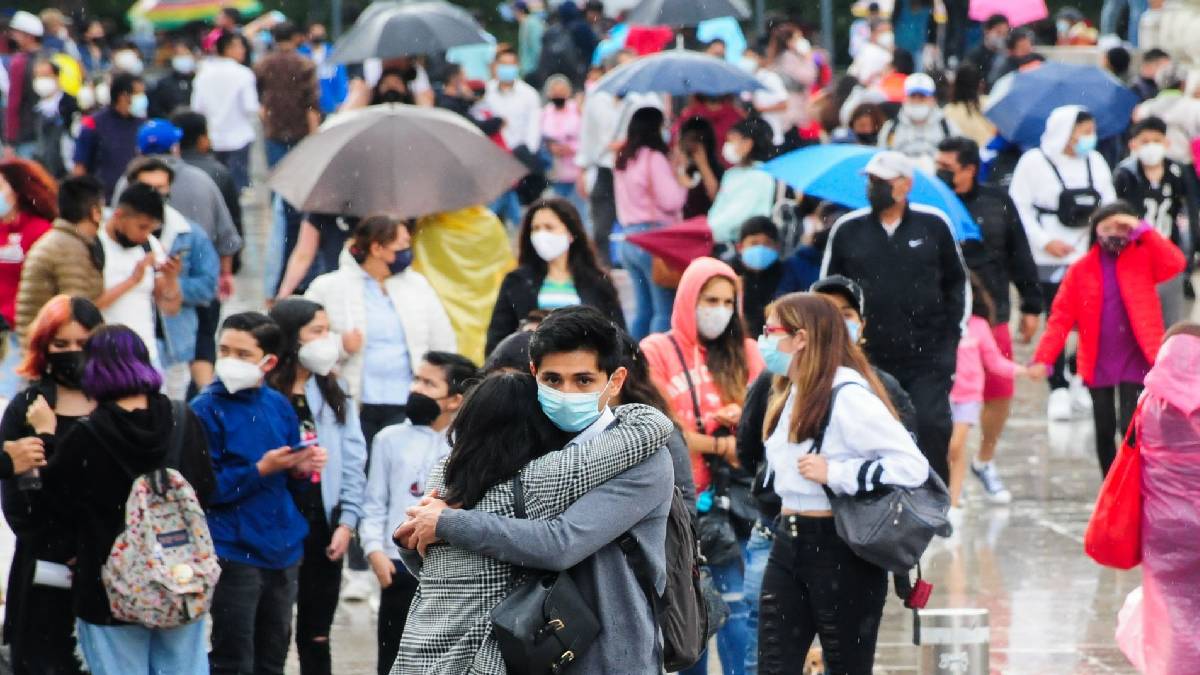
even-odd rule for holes
{"type": "MultiPolygon", "coordinates": [[[[720,428],[720,423],[714,419],[718,410],[726,404],[743,402],[725,400],[716,388],[716,382],[706,365],[708,350],[696,330],[696,304],[700,301],[700,292],[714,276],[728,279],[739,289],[738,316],[734,319],[740,319],[742,298],[737,274],[730,265],[715,258],[697,258],[679,280],[674,309],[671,312],[671,330],[642,340],[642,353],[646,354],[650,378],[666,396],[676,419],[679,420],[679,426],[685,430],[697,429],[692,392],[688,387],[688,376],[691,377],[692,384],[698,389],[696,392],[701,413],[698,426],[703,428],[706,434],[713,434],[720,428]],[[679,354],[676,352],[672,340],[679,345],[686,365],[679,362],[679,354]],[[684,375],[685,372],[688,375],[684,375]]],[[[746,387],[749,388],[750,383],[762,372],[763,363],[758,354],[758,346],[752,339],[744,340],[744,350],[748,371],[746,387]]],[[[733,430],[730,429],[730,431],[733,430]]],[[[709,471],[703,455],[691,455],[691,470],[696,480],[696,492],[707,490],[709,471]]]]}

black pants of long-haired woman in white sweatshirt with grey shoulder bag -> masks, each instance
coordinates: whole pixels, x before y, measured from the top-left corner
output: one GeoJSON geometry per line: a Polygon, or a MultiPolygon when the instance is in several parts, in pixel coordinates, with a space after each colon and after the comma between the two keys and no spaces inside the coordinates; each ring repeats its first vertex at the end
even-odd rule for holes
{"type": "Polygon", "coordinates": [[[870,675],[888,578],[854,555],[832,518],[784,516],[758,605],[758,673],[799,673],[821,635],[826,673],[870,675]]]}

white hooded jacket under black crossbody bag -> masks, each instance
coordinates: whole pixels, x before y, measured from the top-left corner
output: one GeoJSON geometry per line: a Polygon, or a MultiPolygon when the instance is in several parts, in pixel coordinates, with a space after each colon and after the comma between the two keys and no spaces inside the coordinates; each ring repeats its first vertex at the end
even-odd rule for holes
{"type": "Polygon", "coordinates": [[[1057,270],[1082,258],[1087,253],[1091,233],[1086,227],[1067,227],[1057,215],[1038,209],[1049,211],[1058,209],[1058,196],[1062,195],[1063,183],[1072,190],[1087,187],[1088,165],[1092,169],[1092,187],[1100,193],[1100,203],[1117,198],[1112,187],[1112,171],[1099,153],[1092,150],[1086,159],[1066,153],[1067,143],[1075,130],[1075,120],[1082,109],[1079,106],[1063,106],[1050,113],[1046,129],[1042,133],[1042,147],[1021,155],[1008,189],[1008,195],[1016,205],[1016,213],[1021,216],[1021,225],[1025,226],[1025,234],[1030,239],[1033,262],[1043,268],[1043,281],[1058,281],[1061,273],[1056,279],[1057,270]],[[1054,162],[1054,167],[1050,162],[1054,162]],[[1058,181],[1054,168],[1058,169],[1063,183],[1058,181]],[[1051,256],[1045,247],[1055,240],[1074,246],[1075,251],[1064,258],[1051,256]]]}

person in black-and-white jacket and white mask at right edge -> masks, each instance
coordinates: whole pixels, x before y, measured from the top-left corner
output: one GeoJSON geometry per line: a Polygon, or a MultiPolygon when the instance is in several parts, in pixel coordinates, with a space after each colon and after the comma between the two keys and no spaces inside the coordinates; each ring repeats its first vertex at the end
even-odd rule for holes
{"type": "MultiPolygon", "coordinates": [[[[1181,250],[1186,243],[1194,243],[1184,233],[1195,232],[1190,221],[1194,204],[1188,196],[1183,167],[1166,156],[1170,141],[1166,123],[1156,117],[1145,118],[1129,129],[1129,157],[1117,165],[1112,184],[1117,197],[1138,210],[1156,232],[1181,250]]],[[[1166,327],[1183,318],[1182,273],[1158,286],[1163,304],[1163,323],[1166,327]]]]}

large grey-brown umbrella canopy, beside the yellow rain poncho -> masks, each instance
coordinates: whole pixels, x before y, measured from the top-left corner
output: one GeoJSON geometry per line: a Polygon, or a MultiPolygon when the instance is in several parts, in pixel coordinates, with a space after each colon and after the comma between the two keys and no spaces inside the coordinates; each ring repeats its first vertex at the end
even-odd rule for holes
{"type": "Polygon", "coordinates": [[[418,217],[486,204],[526,173],[455,113],[391,103],[330,118],[268,185],[305,211],[418,217]]]}

